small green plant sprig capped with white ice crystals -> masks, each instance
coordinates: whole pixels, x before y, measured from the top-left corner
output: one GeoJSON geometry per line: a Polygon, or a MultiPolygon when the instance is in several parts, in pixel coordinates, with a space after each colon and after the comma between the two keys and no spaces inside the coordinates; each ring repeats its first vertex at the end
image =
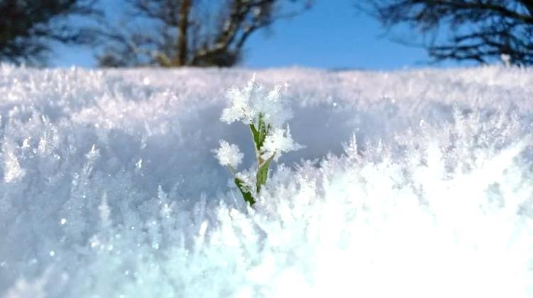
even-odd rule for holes
{"type": "Polygon", "coordinates": [[[272,90],[265,89],[255,82],[254,76],[246,87],[229,89],[226,94],[230,106],[222,111],[221,121],[228,124],[241,121],[250,127],[257,160],[255,177],[237,171],[243,158],[237,145],[221,140],[220,148],[214,153],[219,163],[229,168],[244,200],[251,206],[267,182],[270,163],[278,161],[282,153],[302,148],[302,145],[292,140],[286,124],[292,118],[292,111],[281,92],[279,85],[272,90]]]}

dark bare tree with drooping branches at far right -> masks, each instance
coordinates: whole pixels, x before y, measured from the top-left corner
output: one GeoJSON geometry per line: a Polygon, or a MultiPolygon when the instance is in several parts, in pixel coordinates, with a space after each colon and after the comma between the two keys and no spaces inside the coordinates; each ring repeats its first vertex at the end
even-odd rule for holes
{"type": "Polygon", "coordinates": [[[387,28],[417,29],[424,36],[419,44],[434,60],[485,64],[507,57],[533,65],[533,0],[361,0],[356,6],[387,28]]]}

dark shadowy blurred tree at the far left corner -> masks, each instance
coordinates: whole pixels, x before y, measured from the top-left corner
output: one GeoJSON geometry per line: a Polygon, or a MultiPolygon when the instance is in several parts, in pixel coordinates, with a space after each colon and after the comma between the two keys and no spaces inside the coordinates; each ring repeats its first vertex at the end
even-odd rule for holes
{"type": "Polygon", "coordinates": [[[84,44],[94,31],[71,17],[98,16],[94,0],[0,0],[0,60],[43,64],[52,43],[84,44]]]}

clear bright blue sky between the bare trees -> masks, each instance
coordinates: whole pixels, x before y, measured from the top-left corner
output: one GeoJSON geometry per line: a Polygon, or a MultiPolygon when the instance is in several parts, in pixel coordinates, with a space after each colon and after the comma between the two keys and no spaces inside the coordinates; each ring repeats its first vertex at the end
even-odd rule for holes
{"type": "MultiPolygon", "coordinates": [[[[315,0],[311,10],[274,23],[269,31],[251,35],[245,45],[243,67],[319,67],[392,70],[427,65],[422,48],[391,41],[373,18],[358,12],[358,0],[315,0]]],[[[406,29],[397,35],[412,35],[406,29]]],[[[89,50],[58,47],[53,65],[94,67],[89,50]]],[[[440,66],[454,65],[446,62],[440,66]]],[[[437,65],[439,66],[439,65],[437,65]]]]}

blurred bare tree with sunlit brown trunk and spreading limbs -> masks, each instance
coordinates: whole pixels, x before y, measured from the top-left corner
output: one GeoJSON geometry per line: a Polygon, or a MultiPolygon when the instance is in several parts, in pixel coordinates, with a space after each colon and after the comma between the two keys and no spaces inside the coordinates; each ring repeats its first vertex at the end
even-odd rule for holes
{"type": "Polygon", "coordinates": [[[309,9],[311,1],[128,0],[128,4],[127,15],[133,21],[104,33],[108,43],[97,55],[101,66],[235,65],[252,33],[309,9]]]}

